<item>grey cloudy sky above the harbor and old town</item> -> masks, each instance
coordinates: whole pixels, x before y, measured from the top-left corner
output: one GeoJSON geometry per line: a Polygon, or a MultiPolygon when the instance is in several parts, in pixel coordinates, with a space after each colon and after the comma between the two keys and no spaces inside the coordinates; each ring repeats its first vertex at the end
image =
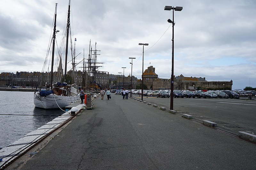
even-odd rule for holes
{"type": "MultiPolygon", "coordinates": [[[[57,29],[66,25],[68,0],[1,0],[0,72],[42,71],[51,35],[55,3],[57,29]]],[[[232,89],[256,87],[255,0],[71,0],[76,58],[88,58],[89,42],[97,42],[100,71],[124,71],[138,79],[154,66],[160,78],[171,77],[172,11],[174,12],[174,75],[233,80],[232,89]],[[122,69],[121,67],[127,67],[122,69]]],[[[60,39],[60,38],[59,38],[60,39]]],[[[82,68],[77,68],[82,70],[82,68]]]]}

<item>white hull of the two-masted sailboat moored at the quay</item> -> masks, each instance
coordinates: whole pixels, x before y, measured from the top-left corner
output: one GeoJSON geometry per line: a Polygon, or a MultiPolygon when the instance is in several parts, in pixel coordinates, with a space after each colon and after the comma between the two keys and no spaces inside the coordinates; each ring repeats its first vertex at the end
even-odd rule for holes
{"type": "Polygon", "coordinates": [[[50,94],[46,97],[41,97],[39,94],[34,95],[35,107],[41,109],[64,108],[71,103],[76,102],[81,102],[79,94],[76,96],[57,96],[55,94],[50,94]]]}

